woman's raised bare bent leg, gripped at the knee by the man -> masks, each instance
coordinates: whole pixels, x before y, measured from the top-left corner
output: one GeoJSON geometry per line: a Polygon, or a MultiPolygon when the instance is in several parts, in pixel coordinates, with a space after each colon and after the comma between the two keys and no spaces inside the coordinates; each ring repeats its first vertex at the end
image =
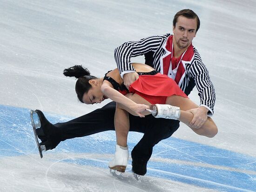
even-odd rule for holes
{"type": "MultiPolygon", "coordinates": [[[[172,106],[179,106],[181,109],[181,115],[179,120],[182,123],[185,123],[187,126],[189,126],[190,121],[193,119],[194,115],[193,113],[187,112],[189,109],[197,108],[198,106],[190,99],[184,98],[177,95],[172,95],[166,99],[166,104],[172,105],[172,106]]],[[[190,127],[190,126],[189,126],[190,127]]],[[[203,124],[203,126],[199,129],[195,129],[190,127],[195,133],[199,135],[203,135],[206,137],[214,137],[217,132],[218,128],[214,121],[208,117],[207,121],[203,124]]]]}

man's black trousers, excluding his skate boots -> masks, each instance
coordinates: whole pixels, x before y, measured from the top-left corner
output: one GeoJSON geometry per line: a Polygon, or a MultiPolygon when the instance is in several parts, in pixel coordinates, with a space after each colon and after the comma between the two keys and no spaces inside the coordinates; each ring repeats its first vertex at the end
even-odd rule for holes
{"type": "MultiPolygon", "coordinates": [[[[115,130],[114,115],[115,102],[110,102],[101,109],[65,123],[57,123],[54,126],[59,132],[58,139],[64,141],[97,132],[115,130]]],[[[152,115],[147,115],[145,118],[129,115],[129,121],[130,131],[144,133],[139,143],[132,150],[133,161],[144,160],[148,162],[155,144],[170,137],[179,127],[179,121],[177,120],[158,119],[152,115]]]]}

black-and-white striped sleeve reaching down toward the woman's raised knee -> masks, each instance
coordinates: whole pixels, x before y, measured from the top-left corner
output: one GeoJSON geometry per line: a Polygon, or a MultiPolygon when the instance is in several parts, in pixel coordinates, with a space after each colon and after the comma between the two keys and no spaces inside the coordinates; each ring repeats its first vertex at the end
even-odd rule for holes
{"type": "Polygon", "coordinates": [[[214,105],[216,93],[214,86],[210,80],[209,72],[201,60],[194,60],[191,64],[189,75],[195,80],[195,86],[200,97],[200,106],[205,106],[209,109],[210,116],[214,113],[214,105]]]}

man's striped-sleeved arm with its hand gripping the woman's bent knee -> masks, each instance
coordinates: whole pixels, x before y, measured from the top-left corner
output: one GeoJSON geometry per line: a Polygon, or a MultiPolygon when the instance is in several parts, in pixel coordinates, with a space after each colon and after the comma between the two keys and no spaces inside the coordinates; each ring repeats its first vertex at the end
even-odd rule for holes
{"type": "Polygon", "coordinates": [[[200,97],[200,107],[189,110],[194,114],[194,118],[189,125],[192,128],[200,128],[207,120],[207,116],[212,116],[214,113],[216,93],[209,72],[202,62],[195,61],[191,65],[189,74],[195,80],[195,86],[200,97]]]}

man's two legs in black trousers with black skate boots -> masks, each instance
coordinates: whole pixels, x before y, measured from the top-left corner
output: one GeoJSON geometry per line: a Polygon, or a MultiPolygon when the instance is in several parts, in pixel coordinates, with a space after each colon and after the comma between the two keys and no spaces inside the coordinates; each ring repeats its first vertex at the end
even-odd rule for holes
{"type": "MultiPolygon", "coordinates": [[[[47,150],[54,149],[61,141],[75,137],[84,137],[94,133],[115,130],[115,102],[76,119],[55,125],[49,123],[43,113],[38,113],[41,127],[37,130],[41,145],[47,150]]],[[[145,118],[129,115],[130,131],[145,133],[132,151],[133,171],[144,175],[147,172],[147,162],[150,159],[153,146],[162,139],[170,137],[179,124],[172,126],[171,119],[157,119],[152,115],[145,118]]]]}

